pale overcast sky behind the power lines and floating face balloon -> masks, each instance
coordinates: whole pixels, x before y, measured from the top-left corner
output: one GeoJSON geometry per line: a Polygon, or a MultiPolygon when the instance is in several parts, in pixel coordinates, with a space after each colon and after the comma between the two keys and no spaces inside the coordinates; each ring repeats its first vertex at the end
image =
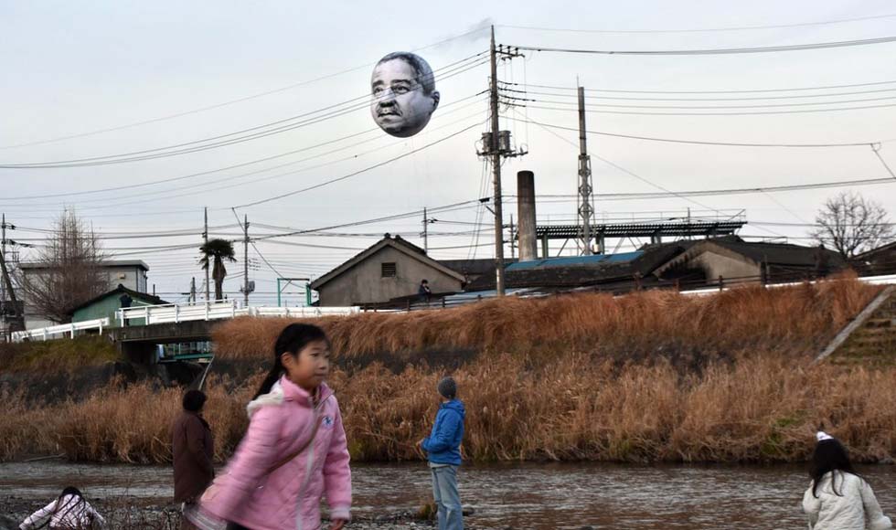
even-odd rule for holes
{"type": "MultiPolygon", "coordinates": [[[[198,153],[126,164],[0,169],[0,210],[17,226],[40,229],[48,228],[52,218],[67,205],[75,207],[102,234],[149,235],[178,230],[198,232],[202,207],[208,207],[211,226],[228,226],[215,228],[213,235],[236,238],[236,218],[231,207],[236,207],[240,218],[248,215],[251,233],[258,235],[278,229],[257,225],[320,228],[470,201],[491,194],[487,182],[483,191],[484,168],[475,154],[475,143],[486,130],[487,111],[485,96],[475,95],[486,89],[488,79],[487,65],[476,66],[475,56],[487,49],[487,26],[491,24],[496,25],[498,43],[511,46],[616,50],[752,48],[892,37],[896,35],[896,16],[880,16],[894,13],[896,8],[886,0],[738,4],[0,0],[0,64],[4,66],[0,81],[0,164],[142,152],[238,132],[362,98],[357,100],[360,105],[352,107],[357,110],[198,153]],[[856,18],[863,20],[805,25],[856,18]],[[754,26],[778,27],[732,29],[754,26]],[[677,31],[698,29],[724,30],[677,31]],[[392,138],[375,129],[363,104],[373,63],[396,50],[418,50],[437,70],[437,79],[446,77],[437,80],[442,93],[439,110],[428,127],[410,139],[392,138]],[[138,122],[147,123],[123,127],[138,122]],[[115,130],[85,134],[105,129],[115,130]],[[350,135],[351,138],[336,141],[350,135]],[[64,139],[68,136],[76,137],[64,139]],[[428,146],[435,142],[439,143],[428,146]],[[320,145],[323,143],[326,144],[320,145]],[[269,162],[212,172],[302,149],[269,162]],[[421,151],[411,154],[417,149],[421,151]],[[405,156],[382,164],[400,155],[405,156]],[[273,168],[290,163],[293,164],[273,168]],[[376,164],[382,165],[331,185],[258,206],[239,207],[376,164]],[[205,175],[187,176],[202,173],[205,175]],[[180,176],[185,178],[171,180],[180,176]],[[66,196],[159,180],[168,182],[66,196]]],[[[526,52],[525,58],[514,59],[498,69],[501,80],[518,83],[517,90],[526,90],[528,86],[529,92],[544,92],[522,96],[542,101],[530,102],[528,108],[507,110],[505,114],[517,121],[505,120],[502,128],[510,129],[517,144],[525,143],[529,150],[527,156],[505,164],[506,193],[515,193],[516,173],[520,169],[535,172],[539,195],[576,192],[577,133],[557,129],[549,132],[519,120],[576,127],[571,89],[577,79],[589,90],[662,92],[853,85],[784,92],[665,93],[654,95],[663,98],[657,101],[644,100],[651,96],[645,93],[589,92],[592,111],[672,115],[590,112],[588,128],[732,143],[883,142],[880,154],[896,167],[896,142],[892,142],[896,140],[896,107],[882,106],[896,104],[896,83],[854,86],[896,81],[894,56],[896,44],[720,56],[526,52]],[[784,98],[746,99],[769,95],[784,98]],[[605,99],[607,96],[635,100],[609,100],[605,99]],[[675,98],[700,101],[670,101],[675,98]],[[822,101],[825,104],[811,104],[822,101]],[[635,106],[598,106],[607,104],[635,106]],[[641,106],[667,108],[650,110],[641,106]],[[675,106],[725,108],[668,108],[675,106]],[[874,108],[829,111],[859,106],[874,108]],[[828,111],[804,112],[809,110],[828,111]],[[731,114],[768,111],[784,113],[731,114]],[[705,112],[713,115],[676,114],[705,112]]],[[[589,148],[594,157],[594,185],[597,193],[602,194],[887,176],[869,146],[747,148],[591,135],[589,148]],[[619,167],[606,164],[597,156],[619,167]]],[[[597,209],[599,218],[650,217],[659,216],[660,212],[669,217],[688,207],[694,215],[718,210],[718,214],[712,215],[725,216],[743,209],[747,220],[753,223],[744,228],[743,235],[786,236],[791,242],[808,243],[801,238],[805,238],[809,228],[791,225],[811,223],[817,208],[837,191],[705,196],[690,200],[599,200],[597,209]]],[[[896,214],[896,185],[862,186],[856,191],[879,200],[891,215],[896,214]]],[[[515,209],[509,198],[507,217],[515,209]]],[[[569,218],[574,212],[571,199],[546,199],[539,203],[539,217],[544,220],[569,218]]],[[[474,250],[475,257],[492,256],[489,244],[494,233],[487,226],[478,239],[471,233],[475,228],[471,223],[485,219],[488,224],[487,212],[474,206],[434,217],[440,222],[430,226],[433,232],[463,233],[431,238],[434,257],[467,258],[474,255],[474,250]],[[480,246],[471,249],[469,246],[476,241],[480,246]]],[[[336,230],[370,234],[364,238],[283,238],[282,241],[293,244],[265,241],[258,243],[258,249],[280,275],[316,277],[375,242],[376,234],[389,231],[409,234],[411,238],[420,231],[420,221],[410,218],[336,230]]],[[[16,230],[11,236],[19,240],[41,237],[38,231],[25,230],[16,230]]],[[[145,260],[151,267],[150,283],[164,298],[175,301],[181,298],[176,293],[187,291],[191,276],[200,281],[197,251],[143,249],[189,245],[198,239],[197,234],[113,238],[104,244],[111,254],[126,253],[127,258],[145,260]],[[145,253],[135,254],[137,250],[126,248],[145,253]]],[[[422,244],[421,238],[411,240],[422,244]]],[[[631,248],[632,243],[626,242],[620,249],[631,248]]],[[[241,245],[239,249],[241,257],[241,245]]],[[[252,300],[272,302],[278,274],[259,260],[255,249],[250,249],[250,255],[257,260],[257,270],[251,270],[250,277],[257,281],[259,292],[252,300]]],[[[234,277],[227,282],[226,291],[231,292],[231,297],[239,297],[232,292],[240,287],[242,280],[237,274],[241,269],[241,261],[229,267],[234,277]]],[[[296,300],[295,296],[290,298],[291,302],[296,300]]]]}

